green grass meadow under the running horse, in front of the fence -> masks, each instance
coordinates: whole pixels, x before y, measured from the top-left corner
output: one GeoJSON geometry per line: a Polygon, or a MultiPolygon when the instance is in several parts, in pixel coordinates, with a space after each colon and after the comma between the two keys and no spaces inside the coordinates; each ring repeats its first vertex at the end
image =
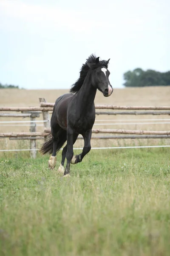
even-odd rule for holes
{"type": "Polygon", "coordinates": [[[169,148],[94,150],[70,178],[48,157],[6,156],[0,256],[170,255],[169,148]]]}

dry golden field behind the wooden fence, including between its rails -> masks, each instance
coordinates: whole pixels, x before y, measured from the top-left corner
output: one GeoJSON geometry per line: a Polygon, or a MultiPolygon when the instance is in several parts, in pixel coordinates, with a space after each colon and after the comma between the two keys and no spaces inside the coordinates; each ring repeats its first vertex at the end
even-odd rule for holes
{"type": "MultiPolygon", "coordinates": [[[[0,89],[0,107],[11,106],[11,107],[24,107],[24,106],[39,106],[39,97],[44,97],[47,102],[55,102],[57,97],[60,95],[68,93],[68,90],[18,90],[18,89],[0,89]]],[[[105,98],[102,93],[97,92],[95,104],[112,104],[112,105],[151,105],[151,106],[168,106],[170,105],[170,86],[168,87],[142,87],[142,88],[123,88],[123,89],[114,89],[113,94],[105,98]]],[[[108,120],[105,123],[113,123],[119,119],[170,119],[169,116],[96,116],[96,119],[108,120]],[[113,121],[109,121],[113,120],[113,121]],[[115,120],[115,121],[114,121],[115,120]]],[[[5,118],[0,117],[0,121],[19,121],[21,118],[5,118]]],[[[24,120],[29,120],[25,118],[24,120]]],[[[37,118],[38,120],[38,118],[37,118]]],[[[42,117],[39,118],[42,120],[42,117]]],[[[102,121],[101,123],[103,123],[102,121]]],[[[122,121],[123,122],[123,121],[122,121]]],[[[121,123],[122,123],[121,122],[121,123]]],[[[125,121],[124,121],[125,122],[125,121]]],[[[127,122],[127,121],[126,121],[127,122]]],[[[128,121],[132,122],[132,121],[128,121]]],[[[140,121],[137,121],[140,122],[140,121]]],[[[147,121],[145,121],[147,122],[147,121]]],[[[157,122],[157,121],[154,121],[157,122]]],[[[160,121],[162,122],[162,121],[160,121]]],[[[168,122],[168,121],[166,121],[168,122]]],[[[99,123],[99,122],[97,122],[99,123]]],[[[39,123],[40,124],[40,123],[39,123]]],[[[27,126],[15,125],[13,124],[0,124],[0,132],[22,132],[29,131],[29,124],[27,126]],[[7,125],[7,126],[6,126],[7,125]]],[[[170,124],[138,124],[138,125],[95,125],[94,128],[120,128],[120,129],[138,129],[138,130],[170,130],[170,124]]],[[[43,131],[43,126],[37,126],[37,131],[43,131]]],[[[142,140],[138,143],[147,143],[147,144],[158,144],[160,140],[142,140]]],[[[12,141],[8,139],[0,140],[0,149],[10,149],[16,147],[27,148],[26,146],[28,141],[12,141]]],[[[40,143],[40,141],[39,141],[40,143]]],[[[42,141],[41,141],[42,143],[42,141]]],[[[123,145],[128,143],[129,145],[136,144],[134,141],[128,140],[100,140],[92,141],[92,146],[96,145],[123,145]]],[[[169,140],[164,141],[164,143],[169,143],[169,140]]],[[[82,141],[78,143],[82,145],[82,141]]],[[[76,145],[78,145],[76,144],[76,145]]]]}

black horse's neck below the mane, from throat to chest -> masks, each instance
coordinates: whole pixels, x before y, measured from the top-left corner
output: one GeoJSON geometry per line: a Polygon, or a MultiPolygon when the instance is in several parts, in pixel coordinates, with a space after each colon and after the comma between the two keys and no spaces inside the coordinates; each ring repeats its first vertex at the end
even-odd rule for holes
{"type": "Polygon", "coordinates": [[[77,93],[77,99],[79,101],[79,106],[81,111],[85,109],[91,109],[94,106],[94,99],[96,96],[96,88],[91,83],[91,71],[88,72],[85,81],[82,84],[79,92],[77,93]]]}

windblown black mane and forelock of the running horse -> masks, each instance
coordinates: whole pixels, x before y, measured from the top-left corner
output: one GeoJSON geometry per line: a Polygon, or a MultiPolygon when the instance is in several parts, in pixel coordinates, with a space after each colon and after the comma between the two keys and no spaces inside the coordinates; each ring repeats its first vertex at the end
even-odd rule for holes
{"type": "Polygon", "coordinates": [[[96,69],[97,67],[100,67],[100,66],[105,66],[106,68],[108,68],[108,62],[107,61],[102,60],[102,61],[99,61],[96,64],[96,58],[97,57],[94,54],[91,54],[86,59],[85,64],[82,64],[79,79],[74,84],[72,84],[71,89],[70,89],[70,93],[77,93],[80,90],[80,88],[82,87],[82,84],[85,81],[85,78],[88,74],[88,71],[90,69],[94,70],[94,69],[96,69]]]}

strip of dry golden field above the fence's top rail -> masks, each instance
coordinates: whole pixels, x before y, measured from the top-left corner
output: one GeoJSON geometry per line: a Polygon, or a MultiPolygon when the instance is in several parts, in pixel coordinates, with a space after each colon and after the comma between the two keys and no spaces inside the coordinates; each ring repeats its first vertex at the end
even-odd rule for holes
{"type": "MultiPolygon", "coordinates": [[[[17,90],[0,89],[0,106],[37,106],[39,97],[54,102],[57,97],[68,90],[17,90]]],[[[114,89],[113,94],[106,98],[99,91],[96,104],[113,105],[170,105],[170,86],[114,89]]]]}

